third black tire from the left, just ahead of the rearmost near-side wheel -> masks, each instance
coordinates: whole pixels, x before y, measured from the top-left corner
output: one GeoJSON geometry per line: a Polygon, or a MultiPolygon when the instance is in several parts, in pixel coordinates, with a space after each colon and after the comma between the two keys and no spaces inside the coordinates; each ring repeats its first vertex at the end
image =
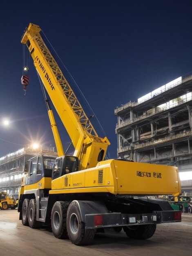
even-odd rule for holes
{"type": "Polygon", "coordinates": [[[68,238],[66,220],[67,204],[63,201],[55,202],[51,211],[51,228],[56,238],[68,238]]]}

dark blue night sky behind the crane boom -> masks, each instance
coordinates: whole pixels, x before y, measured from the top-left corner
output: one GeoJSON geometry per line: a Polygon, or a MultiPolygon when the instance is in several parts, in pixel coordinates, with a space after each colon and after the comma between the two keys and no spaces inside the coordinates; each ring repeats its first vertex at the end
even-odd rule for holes
{"type": "MultiPolygon", "coordinates": [[[[6,129],[0,125],[0,157],[32,138],[54,145],[32,60],[26,97],[20,83],[20,38],[29,22],[42,28],[75,79],[114,158],[116,106],[192,71],[191,13],[190,0],[1,1],[0,119],[13,122],[6,129]]],[[[66,149],[69,138],[59,121],[58,128],[66,149]]]]}

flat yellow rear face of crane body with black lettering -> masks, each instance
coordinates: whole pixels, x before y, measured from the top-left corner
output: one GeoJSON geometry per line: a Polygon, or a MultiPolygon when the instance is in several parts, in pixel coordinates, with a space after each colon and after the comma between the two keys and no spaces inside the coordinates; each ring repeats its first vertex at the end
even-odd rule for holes
{"type": "Polygon", "coordinates": [[[181,193],[178,168],[159,164],[114,161],[118,194],[181,193]]]}

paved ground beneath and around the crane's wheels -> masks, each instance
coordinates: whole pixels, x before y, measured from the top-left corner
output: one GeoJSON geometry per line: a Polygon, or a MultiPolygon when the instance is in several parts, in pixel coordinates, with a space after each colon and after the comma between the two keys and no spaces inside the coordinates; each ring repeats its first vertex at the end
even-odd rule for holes
{"type": "Polygon", "coordinates": [[[92,245],[79,247],[69,240],[56,239],[47,230],[30,229],[18,220],[17,210],[0,210],[1,256],[191,256],[192,214],[182,222],[157,226],[148,240],[134,240],[126,234],[96,234],[92,245]]]}

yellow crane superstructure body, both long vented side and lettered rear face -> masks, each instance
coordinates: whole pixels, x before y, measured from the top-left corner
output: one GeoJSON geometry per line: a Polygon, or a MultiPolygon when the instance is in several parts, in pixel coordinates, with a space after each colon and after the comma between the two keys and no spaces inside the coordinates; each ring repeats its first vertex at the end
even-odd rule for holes
{"type": "Polygon", "coordinates": [[[95,168],[53,180],[49,193],[106,191],[119,195],[180,194],[178,168],[111,159],[100,162],[95,168]]]}

